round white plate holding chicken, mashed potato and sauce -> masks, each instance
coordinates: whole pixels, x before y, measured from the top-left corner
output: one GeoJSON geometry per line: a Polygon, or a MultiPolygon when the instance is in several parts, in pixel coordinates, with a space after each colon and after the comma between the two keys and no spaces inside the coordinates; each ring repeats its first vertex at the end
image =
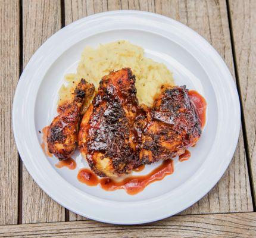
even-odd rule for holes
{"type": "MultiPolygon", "coordinates": [[[[129,66],[129,65],[127,65],[129,66]]],[[[76,21],[51,36],[33,55],[20,77],[13,105],[18,151],[30,175],[52,199],[77,214],[115,224],[140,224],[169,217],[188,208],[217,183],[238,142],[240,107],[232,76],[214,48],[196,32],[162,15],[113,11],[76,21]],[[79,153],[77,169],[56,168],[48,158],[39,130],[57,114],[58,89],[64,74],[76,70],[86,45],[129,40],[146,57],[164,62],[177,85],[196,89],[208,104],[207,124],[191,159],[175,161],[174,173],[135,196],[124,190],[105,192],[76,176],[88,167],[79,153]]],[[[139,174],[157,165],[148,165],[139,174]]]]}

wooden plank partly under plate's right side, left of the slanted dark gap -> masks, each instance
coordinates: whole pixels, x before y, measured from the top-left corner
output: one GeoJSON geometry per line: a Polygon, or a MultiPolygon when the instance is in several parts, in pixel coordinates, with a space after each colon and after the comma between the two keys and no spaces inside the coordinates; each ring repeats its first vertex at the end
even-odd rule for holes
{"type": "MultiPolygon", "coordinates": [[[[226,1],[156,1],[156,12],[181,21],[205,37],[223,57],[234,79],[226,1]]],[[[202,214],[252,211],[242,130],[229,169],[208,195],[183,212],[202,214]]]]}

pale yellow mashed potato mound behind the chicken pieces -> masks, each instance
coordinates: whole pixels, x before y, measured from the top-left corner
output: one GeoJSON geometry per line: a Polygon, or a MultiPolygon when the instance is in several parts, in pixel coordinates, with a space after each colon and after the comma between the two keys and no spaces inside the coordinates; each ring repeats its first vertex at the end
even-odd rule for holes
{"type": "Polygon", "coordinates": [[[81,78],[93,83],[98,89],[99,81],[112,70],[129,67],[136,76],[139,103],[152,105],[155,93],[162,84],[174,85],[171,72],[166,65],[143,57],[141,47],[126,40],[99,45],[93,49],[86,46],[77,67],[76,74],[67,74],[65,84],[59,92],[60,103],[67,101],[81,78]]]}

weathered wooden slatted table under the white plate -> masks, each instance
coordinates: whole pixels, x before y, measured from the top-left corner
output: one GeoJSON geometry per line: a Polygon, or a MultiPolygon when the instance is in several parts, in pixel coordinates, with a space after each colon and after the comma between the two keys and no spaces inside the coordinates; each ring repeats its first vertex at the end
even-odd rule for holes
{"type": "Polygon", "coordinates": [[[255,12],[255,0],[0,0],[0,237],[256,236],[255,12]],[[211,192],[179,215],[142,226],[99,223],[54,202],[27,173],[11,127],[15,87],[36,49],[72,21],[127,9],[167,15],[205,37],[236,80],[242,108],[235,155],[211,192]]]}

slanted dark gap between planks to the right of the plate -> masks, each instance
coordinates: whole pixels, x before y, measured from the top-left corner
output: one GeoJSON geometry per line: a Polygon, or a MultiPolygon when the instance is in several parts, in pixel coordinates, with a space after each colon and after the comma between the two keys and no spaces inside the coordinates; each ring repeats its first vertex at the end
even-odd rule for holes
{"type": "Polygon", "coordinates": [[[237,64],[237,59],[236,59],[236,49],[235,49],[235,43],[234,43],[234,35],[233,35],[233,29],[232,29],[232,18],[231,18],[231,13],[230,13],[230,5],[229,5],[229,0],[226,0],[226,5],[227,5],[227,18],[229,21],[229,33],[230,33],[230,41],[231,41],[231,48],[232,48],[232,54],[233,54],[233,62],[234,62],[234,68],[235,68],[235,80],[236,80],[236,86],[238,89],[238,95],[239,95],[239,103],[241,107],[241,124],[242,124],[242,131],[243,131],[243,143],[244,143],[244,148],[245,148],[245,156],[246,156],[246,162],[248,166],[248,175],[249,175],[249,184],[251,187],[251,196],[252,196],[252,206],[254,211],[256,211],[256,204],[255,204],[255,193],[253,189],[253,178],[252,178],[252,165],[249,161],[249,147],[248,147],[248,137],[246,133],[246,128],[245,128],[245,115],[243,113],[243,104],[242,104],[242,93],[241,93],[241,86],[240,86],[240,81],[239,81],[239,74],[238,74],[238,64],[237,64]]]}

